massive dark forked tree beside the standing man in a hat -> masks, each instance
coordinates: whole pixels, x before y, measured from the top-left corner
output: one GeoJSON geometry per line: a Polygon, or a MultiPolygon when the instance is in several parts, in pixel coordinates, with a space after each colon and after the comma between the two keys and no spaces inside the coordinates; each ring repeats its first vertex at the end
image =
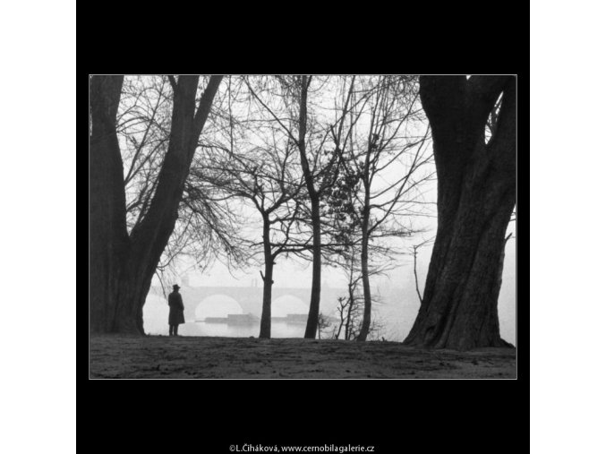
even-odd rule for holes
{"type": "MultiPolygon", "coordinates": [[[[147,210],[130,232],[124,161],[117,131],[124,77],[93,76],[90,79],[90,328],[93,332],[144,334],[143,304],[158,261],[175,228],[198,138],[221,81],[220,76],[210,77],[196,103],[200,76],[169,76],[168,79],[172,114],[166,153],[154,178],[155,189],[147,210]]],[[[138,148],[135,142],[132,146],[138,148]]]]}

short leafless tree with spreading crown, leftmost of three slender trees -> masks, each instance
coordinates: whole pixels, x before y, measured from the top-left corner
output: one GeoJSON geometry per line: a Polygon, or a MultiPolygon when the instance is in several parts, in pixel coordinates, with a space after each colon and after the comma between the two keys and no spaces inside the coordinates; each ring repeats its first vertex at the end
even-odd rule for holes
{"type": "MultiPolygon", "coordinates": [[[[240,79],[245,81],[245,79],[240,79]]],[[[298,237],[301,218],[303,176],[298,171],[298,150],[272,118],[255,115],[248,86],[229,99],[229,124],[223,134],[204,147],[204,160],[192,167],[196,187],[212,187],[217,198],[239,200],[256,212],[261,241],[241,238],[253,256],[264,263],[263,305],[260,338],[271,336],[271,291],[274,266],[280,254],[309,249],[298,237]],[[248,96],[247,96],[248,95],[248,96]]],[[[254,221],[253,221],[254,222],[254,221]]],[[[250,223],[246,224],[252,230],[250,223]]]]}

